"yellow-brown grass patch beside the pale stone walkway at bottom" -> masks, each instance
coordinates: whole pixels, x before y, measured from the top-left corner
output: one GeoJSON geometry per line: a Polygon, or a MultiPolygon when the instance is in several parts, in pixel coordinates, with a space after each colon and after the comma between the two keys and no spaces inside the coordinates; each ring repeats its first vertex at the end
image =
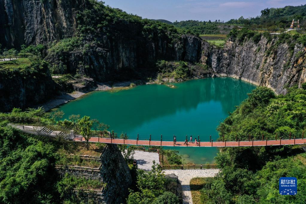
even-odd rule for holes
{"type": "Polygon", "coordinates": [[[201,196],[200,190],[205,187],[205,185],[210,185],[214,180],[214,177],[211,178],[193,178],[190,180],[190,190],[192,196],[192,202],[194,204],[204,204],[205,199],[201,196]]]}

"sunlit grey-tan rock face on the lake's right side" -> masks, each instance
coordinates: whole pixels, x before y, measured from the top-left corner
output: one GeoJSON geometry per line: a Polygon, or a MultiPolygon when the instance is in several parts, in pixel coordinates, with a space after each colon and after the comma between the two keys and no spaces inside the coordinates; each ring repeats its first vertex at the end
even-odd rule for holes
{"type": "Polygon", "coordinates": [[[296,44],[290,50],[288,44],[276,43],[277,39],[268,42],[263,36],[259,43],[252,39],[242,44],[229,40],[219,50],[203,42],[201,61],[221,76],[239,78],[285,94],[287,87],[306,81],[306,49],[296,44]]]}

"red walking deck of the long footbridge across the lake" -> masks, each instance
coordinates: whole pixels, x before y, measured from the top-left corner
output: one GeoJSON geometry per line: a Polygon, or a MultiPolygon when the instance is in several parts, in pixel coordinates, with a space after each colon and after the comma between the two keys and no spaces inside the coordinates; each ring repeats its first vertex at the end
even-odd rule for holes
{"type": "MultiPolygon", "coordinates": [[[[75,141],[86,141],[84,137],[82,140],[75,139],[75,141]]],[[[175,147],[248,147],[248,146],[270,146],[270,145],[294,145],[294,144],[305,144],[306,139],[282,139],[282,140],[254,140],[254,141],[225,141],[225,142],[198,142],[190,143],[188,145],[184,142],[177,141],[174,144],[173,141],[149,141],[149,140],[136,140],[136,139],[111,139],[111,138],[98,138],[91,137],[89,142],[99,143],[112,143],[112,144],[129,144],[129,145],[151,145],[151,146],[175,146],[175,147]]]]}

